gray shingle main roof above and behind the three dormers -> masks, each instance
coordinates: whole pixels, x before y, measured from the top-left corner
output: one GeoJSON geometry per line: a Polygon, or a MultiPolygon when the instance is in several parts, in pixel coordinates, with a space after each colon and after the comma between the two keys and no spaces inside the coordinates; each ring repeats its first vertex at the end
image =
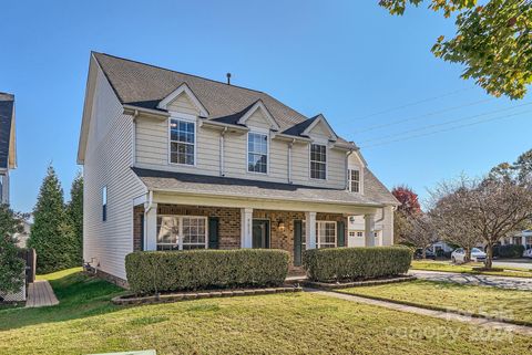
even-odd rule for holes
{"type": "MultiPolygon", "coordinates": [[[[306,116],[259,91],[227,85],[223,82],[104,53],[93,52],[93,55],[122,104],[157,109],[158,103],[164,97],[186,83],[208,111],[209,119],[233,123],[235,118],[238,119],[246,113],[246,108],[260,100],[279,124],[280,132],[299,135],[299,130],[293,127],[301,123],[304,126],[310,124],[306,116]]],[[[347,143],[342,138],[338,140],[342,144],[347,143]]]]}

